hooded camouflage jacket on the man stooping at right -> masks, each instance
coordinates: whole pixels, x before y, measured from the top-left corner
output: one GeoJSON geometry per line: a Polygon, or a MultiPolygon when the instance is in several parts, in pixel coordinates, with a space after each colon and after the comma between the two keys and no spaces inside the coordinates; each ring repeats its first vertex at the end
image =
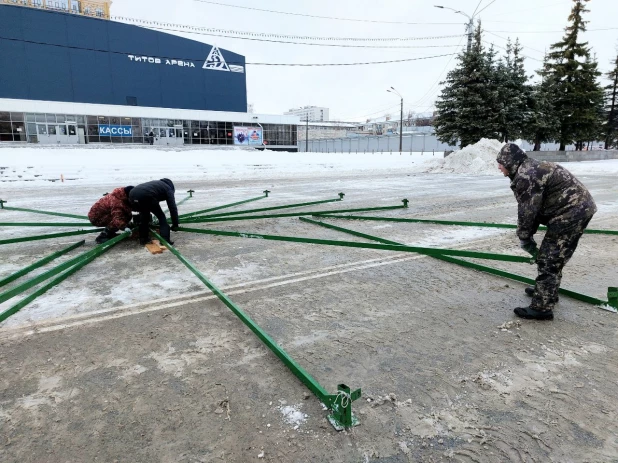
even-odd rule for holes
{"type": "Polygon", "coordinates": [[[560,233],[597,211],[590,192],[564,167],[531,159],[513,143],[500,150],[497,161],[509,171],[517,199],[519,239],[532,238],[540,224],[560,233]]]}

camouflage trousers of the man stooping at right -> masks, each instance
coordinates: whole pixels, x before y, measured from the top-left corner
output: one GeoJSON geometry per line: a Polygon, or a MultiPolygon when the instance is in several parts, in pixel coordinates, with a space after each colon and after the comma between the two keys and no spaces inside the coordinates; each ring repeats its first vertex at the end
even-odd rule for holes
{"type": "Polygon", "coordinates": [[[558,302],[562,269],[573,257],[577,244],[592,217],[571,224],[550,225],[537,255],[539,275],[536,277],[530,307],[553,310],[558,302]]]}

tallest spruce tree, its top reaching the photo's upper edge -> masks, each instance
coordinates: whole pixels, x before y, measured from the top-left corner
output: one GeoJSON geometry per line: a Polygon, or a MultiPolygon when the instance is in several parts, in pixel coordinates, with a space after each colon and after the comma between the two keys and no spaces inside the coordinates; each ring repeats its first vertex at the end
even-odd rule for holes
{"type": "Polygon", "coordinates": [[[556,89],[554,108],[560,125],[557,139],[561,151],[573,142],[581,149],[584,142],[599,133],[603,105],[603,90],[597,80],[600,72],[597,62],[590,57],[588,42],[579,41],[579,34],[586,31],[587,21],[582,15],[589,11],[585,7],[589,1],[573,0],[565,36],[551,46],[542,71],[556,89]]]}

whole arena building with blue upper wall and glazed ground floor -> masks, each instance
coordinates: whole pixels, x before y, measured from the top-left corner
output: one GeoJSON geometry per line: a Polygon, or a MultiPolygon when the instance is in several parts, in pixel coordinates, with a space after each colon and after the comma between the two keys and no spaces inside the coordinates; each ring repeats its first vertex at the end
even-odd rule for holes
{"type": "Polygon", "coordinates": [[[244,56],[110,4],[0,0],[0,141],[296,149],[298,117],[247,112],[244,56]]]}

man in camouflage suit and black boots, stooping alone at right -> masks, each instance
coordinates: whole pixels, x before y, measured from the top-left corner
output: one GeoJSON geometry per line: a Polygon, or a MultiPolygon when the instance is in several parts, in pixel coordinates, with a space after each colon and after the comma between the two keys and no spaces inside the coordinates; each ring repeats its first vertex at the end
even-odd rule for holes
{"type": "Polygon", "coordinates": [[[532,296],[530,306],[516,308],[515,314],[552,320],[562,269],[573,256],[597,207],[590,192],[568,170],[531,159],[514,143],[500,150],[497,161],[500,171],[511,179],[517,199],[520,246],[536,255],[539,271],[535,287],[526,288],[526,294],[532,296]],[[540,224],[547,225],[547,232],[537,250],[533,236],[540,224]]]}

